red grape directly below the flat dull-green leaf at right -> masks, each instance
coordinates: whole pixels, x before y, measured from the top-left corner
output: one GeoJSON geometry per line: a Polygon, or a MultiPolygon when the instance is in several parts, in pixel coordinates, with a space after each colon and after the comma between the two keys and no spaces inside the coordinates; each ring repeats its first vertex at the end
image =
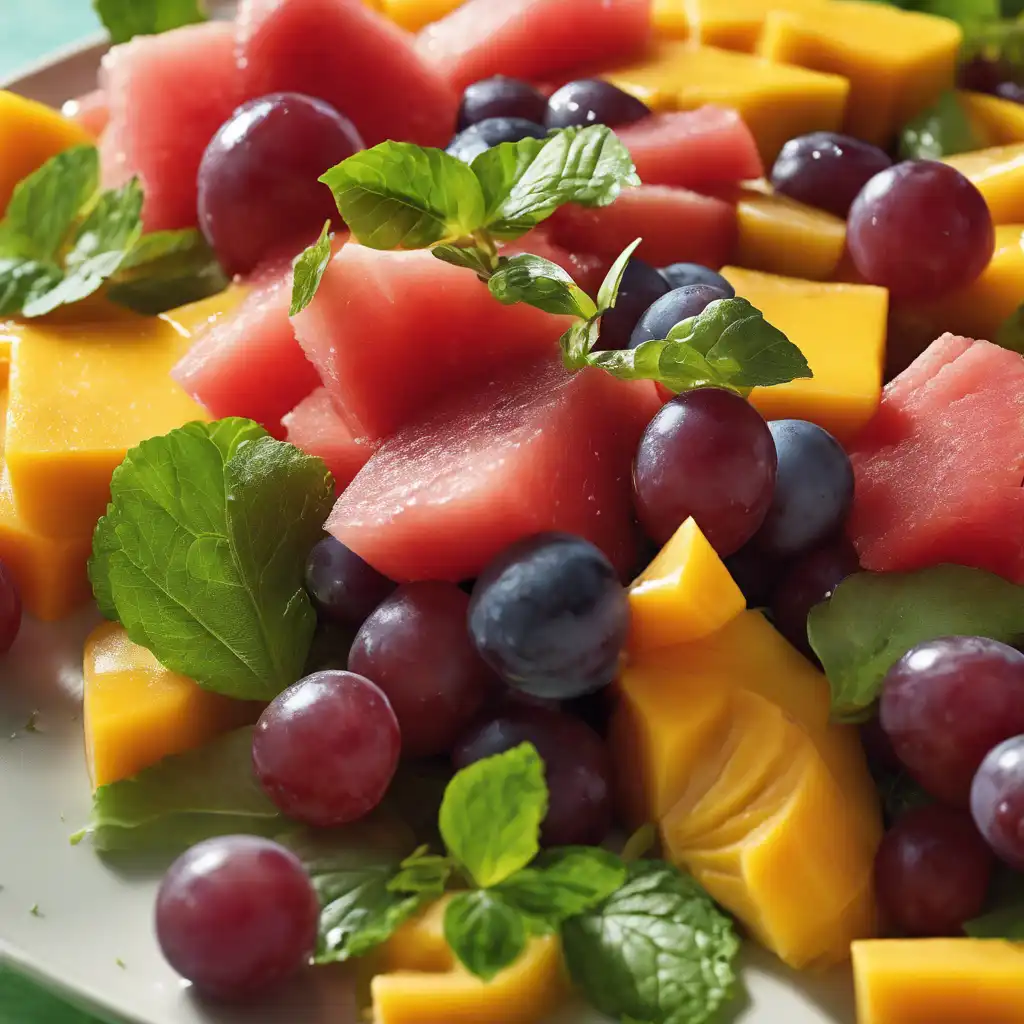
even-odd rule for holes
{"type": "Polygon", "coordinates": [[[919,644],[887,673],[881,717],[922,786],[967,807],[985,755],[1024,732],[1024,654],[984,637],[919,644]]]}

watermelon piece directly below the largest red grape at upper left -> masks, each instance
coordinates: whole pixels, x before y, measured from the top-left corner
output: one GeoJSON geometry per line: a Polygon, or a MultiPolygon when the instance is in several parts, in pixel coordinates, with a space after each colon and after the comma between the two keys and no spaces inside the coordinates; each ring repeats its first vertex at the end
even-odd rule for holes
{"type": "Polygon", "coordinates": [[[210,414],[246,416],[282,436],[282,417],[319,384],[288,317],[292,264],[258,270],[249,294],[202,330],[171,376],[210,414]]]}

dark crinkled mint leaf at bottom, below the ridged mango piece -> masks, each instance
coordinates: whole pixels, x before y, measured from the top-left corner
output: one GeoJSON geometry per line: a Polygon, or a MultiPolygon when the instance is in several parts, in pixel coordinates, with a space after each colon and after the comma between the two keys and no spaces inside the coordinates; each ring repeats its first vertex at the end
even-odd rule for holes
{"type": "Polygon", "coordinates": [[[599,907],[562,926],[569,974],[601,1013],[649,1024],[706,1024],[736,989],[732,922],[660,861],[630,865],[599,907]]]}

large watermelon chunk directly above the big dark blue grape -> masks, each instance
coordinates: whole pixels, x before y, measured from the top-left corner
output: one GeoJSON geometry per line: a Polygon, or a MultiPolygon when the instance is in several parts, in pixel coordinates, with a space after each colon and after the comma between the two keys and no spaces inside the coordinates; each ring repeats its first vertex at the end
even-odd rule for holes
{"type": "Polygon", "coordinates": [[[519,365],[384,441],[327,528],[392,580],[468,580],[538,530],[633,565],[631,473],[653,388],[556,359],[519,365]]]}

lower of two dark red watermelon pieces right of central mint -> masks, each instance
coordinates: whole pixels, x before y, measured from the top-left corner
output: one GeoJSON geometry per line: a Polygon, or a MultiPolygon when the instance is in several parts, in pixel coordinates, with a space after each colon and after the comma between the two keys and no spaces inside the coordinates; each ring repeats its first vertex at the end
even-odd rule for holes
{"type": "Polygon", "coordinates": [[[685,188],[627,188],[611,206],[563,206],[548,221],[552,239],[572,252],[614,259],[634,239],[637,255],[653,266],[729,262],[736,245],[736,209],[713,196],[685,188]]]}

